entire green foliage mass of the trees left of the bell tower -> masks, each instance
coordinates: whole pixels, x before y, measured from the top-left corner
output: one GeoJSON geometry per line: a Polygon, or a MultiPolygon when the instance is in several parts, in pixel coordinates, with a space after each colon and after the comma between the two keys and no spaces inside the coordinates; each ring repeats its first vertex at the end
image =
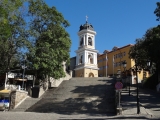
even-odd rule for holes
{"type": "Polygon", "coordinates": [[[69,63],[71,40],[65,30],[69,23],[55,7],[43,0],[1,0],[0,24],[0,72],[17,66],[26,49],[26,64],[34,74],[65,75],[62,62],[69,63]]]}

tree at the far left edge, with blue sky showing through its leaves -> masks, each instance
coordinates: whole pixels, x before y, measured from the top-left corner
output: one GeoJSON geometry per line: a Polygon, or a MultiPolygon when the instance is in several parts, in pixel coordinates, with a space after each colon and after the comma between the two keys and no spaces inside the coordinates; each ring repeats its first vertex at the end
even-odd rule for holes
{"type": "Polygon", "coordinates": [[[0,1],[0,73],[8,72],[25,46],[25,21],[21,7],[24,0],[0,1]]]}

